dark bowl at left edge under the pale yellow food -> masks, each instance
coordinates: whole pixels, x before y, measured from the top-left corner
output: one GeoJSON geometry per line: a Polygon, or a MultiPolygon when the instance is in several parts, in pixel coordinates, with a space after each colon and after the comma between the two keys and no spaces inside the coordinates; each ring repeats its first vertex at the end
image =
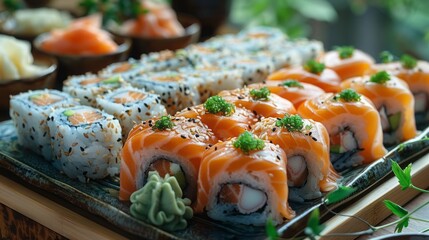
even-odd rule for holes
{"type": "Polygon", "coordinates": [[[0,81],[0,118],[4,119],[4,116],[8,114],[11,95],[29,90],[55,87],[57,74],[57,61],[55,58],[38,54],[33,54],[33,57],[35,65],[46,67],[39,76],[0,81]]]}

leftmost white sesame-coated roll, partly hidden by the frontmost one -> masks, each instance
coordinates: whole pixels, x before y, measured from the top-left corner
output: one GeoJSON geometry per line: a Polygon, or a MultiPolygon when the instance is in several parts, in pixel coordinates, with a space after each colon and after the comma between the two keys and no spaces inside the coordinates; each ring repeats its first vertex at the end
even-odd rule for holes
{"type": "Polygon", "coordinates": [[[51,161],[51,140],[46,120],[49,114],[60,107],[78,103],[67,93],[57,90],[37,90],[12,96],[10,117],[17,133],[18,142],[51,161]]]}

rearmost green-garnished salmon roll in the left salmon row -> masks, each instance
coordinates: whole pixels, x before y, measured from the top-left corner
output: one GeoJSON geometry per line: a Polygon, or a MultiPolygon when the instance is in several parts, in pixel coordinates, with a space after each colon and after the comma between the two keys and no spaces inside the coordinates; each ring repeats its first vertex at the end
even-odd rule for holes
{"type": "Polygon", "coordinates": [[[341,80],[363,76],[371,71],[374,59],[351,46],[337,47],[323,55],[321,61],[334,70],[341,80]]]}

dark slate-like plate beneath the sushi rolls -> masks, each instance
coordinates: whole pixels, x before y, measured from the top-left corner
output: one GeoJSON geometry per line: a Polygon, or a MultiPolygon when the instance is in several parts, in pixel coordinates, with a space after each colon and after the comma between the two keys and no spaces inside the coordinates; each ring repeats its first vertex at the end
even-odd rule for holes
{"type": "MultiPolygon", "coordinates": [[[[374,163],[349,169],[342,174],[340,184],[352,186],[357,191],[348,199],[329,206],[338,209],[352,201],[371,187],[389,176],[391,163],[408,163],[418,159],[429,151],[429,141],[422,140],[429,136],[429,128],[419,136],[392,149],[385,157],[374,163]]],[[[144,239],[264,239],[264,227],[252,227],[213,221],[205,215],[196,215],[183,231],[168,233],[150,224],[133,218],[129,213],[129,204],[118,200],[119,178],[107,178],[101,181],[81,183],[59,173],[42,157],[22,148],[17,143],[17,136],[12,121],[0,123],[0,168],[17,176],[24,182],[48,191],[84,212],[101,217],[106,222],[136,237],[144,239]]],[[[304,203],[291,203],[297,217],[279,226],[283,236],[299,234],[306,224],[312,209],[322,206],[323,199],[304,203]]],[[[322,216],[328,216],[326,208],[321,208],[322,216]]]]}

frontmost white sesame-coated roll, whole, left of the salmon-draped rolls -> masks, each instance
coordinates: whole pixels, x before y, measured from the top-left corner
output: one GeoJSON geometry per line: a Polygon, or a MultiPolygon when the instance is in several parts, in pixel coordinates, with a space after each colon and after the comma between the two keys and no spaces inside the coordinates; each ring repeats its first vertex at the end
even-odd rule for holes
{"type": "Polygon", "coordinates": [[[96,108],[59,108],[48,117],[54,166],[87,182],[119,173],[121,126],[96,108]]]}

